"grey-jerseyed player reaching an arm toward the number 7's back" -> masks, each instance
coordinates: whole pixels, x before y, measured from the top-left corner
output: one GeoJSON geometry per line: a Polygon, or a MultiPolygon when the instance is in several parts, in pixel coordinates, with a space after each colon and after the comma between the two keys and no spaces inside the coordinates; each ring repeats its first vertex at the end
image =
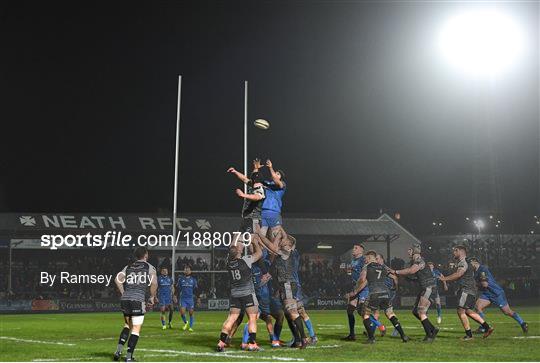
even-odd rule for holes
{"type": "Polygon", "coordinates": [[[412,248],[409,248],[408,252],[411,257],[411,266],[403,270],[391,270],[391,272],[396,276],[415,275],[417,278],[421,291],[416,297],[412,313],[422,323],[422,327],[426,333],[424,342],[431,343],[439,333],[439,328],[435,327],[427,316],[429,306],[434,302],[437,295],[437,283],[435,282],[433,273],[420,255],[420,245],[413,245],[412,248]]]}

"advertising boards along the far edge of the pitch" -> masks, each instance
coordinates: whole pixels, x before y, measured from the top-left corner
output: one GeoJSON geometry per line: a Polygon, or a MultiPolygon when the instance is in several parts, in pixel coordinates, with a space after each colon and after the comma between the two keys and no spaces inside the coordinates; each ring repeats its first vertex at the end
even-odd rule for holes
{"type": "MultiPolygon", "coordinates": [[[[403,296],[397,298],[395,307],[410,307],[414,304],[416,297],[403,296]]],[[[305,306],[310,310],[342,310],[347,307],[347,300],[334,298],[307,298],[304,300],[305,306]]],[[[455,307],[456,299],[453,296],[441,296],[443,306],[455,307]],[[449,304],[447,304],[449,302],[449,304]]],[[[198,299],[195,307],[199,311],[218,311],[229,309],[229,299],[198,299]]],[[[154,306],[154,310],[158,310],[154,306]]],[[[33,300],[2,300],[0,301],[0,313],[70,313],[70,312],[112,312],[120,311],[119,299],[33,299],[33,300]]]]}

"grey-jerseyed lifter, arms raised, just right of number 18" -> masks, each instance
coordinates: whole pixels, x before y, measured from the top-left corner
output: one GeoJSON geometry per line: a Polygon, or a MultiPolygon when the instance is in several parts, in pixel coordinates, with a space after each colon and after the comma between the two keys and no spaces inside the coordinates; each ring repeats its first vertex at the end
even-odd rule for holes
{"type": "Polygon", "coordinates": [[[273,241],[270,241],[262,234],[259,235],[258,239],[275,256],[273,263],[274,278],[277,281],[281,304],[285,310],[285,317],[290,322],[289,327],[293,332],[293,336],[295,340],[299,340],[294,346],[303,349],[307,347],[308,342],[304,331],[304,321],[298,313],[298,304],[295,298],[297,285],[293,276],[294,258],[292,254],[296,240],[286,234],[283,229],[279,230],[278,234],[281,234],[281,236],[278,236],[273,241]]]}

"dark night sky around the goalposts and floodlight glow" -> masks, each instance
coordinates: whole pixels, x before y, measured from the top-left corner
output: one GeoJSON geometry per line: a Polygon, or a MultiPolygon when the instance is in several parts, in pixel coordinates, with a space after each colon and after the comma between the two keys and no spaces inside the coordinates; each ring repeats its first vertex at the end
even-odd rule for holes
{"type": "Polygon", "coordinates": [[[182,211],[239,210],[244,80],[287,212],[468,213],[492,160],[503,212],[539,209],[538,3],[496,5],[529,49],[495,84],[432,44],[463,2],[133,4],[2,5],[4,211],[170,209],[177,74],[182,211]]]}

